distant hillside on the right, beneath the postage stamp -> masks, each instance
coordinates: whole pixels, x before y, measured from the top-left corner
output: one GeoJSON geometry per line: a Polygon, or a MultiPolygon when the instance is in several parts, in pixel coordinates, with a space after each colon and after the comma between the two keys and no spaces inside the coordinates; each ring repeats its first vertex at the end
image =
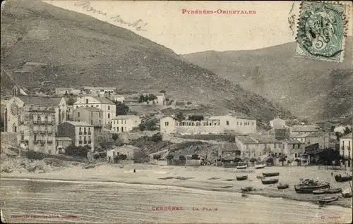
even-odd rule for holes
{"type": "Polygon", "coordinates": [[[183,57],[289,108],[295,116],[331,118],[352,113],[353,37],[343,63],[294,58],[296,43],[251,51],[203,51],[183,57]]]}

